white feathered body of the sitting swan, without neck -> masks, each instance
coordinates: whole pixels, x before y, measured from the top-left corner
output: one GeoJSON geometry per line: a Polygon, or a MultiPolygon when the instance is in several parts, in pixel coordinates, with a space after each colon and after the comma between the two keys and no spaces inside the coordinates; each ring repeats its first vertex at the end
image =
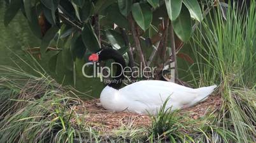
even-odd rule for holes
{"type": "Polygon", "coordinates": [[[166,109],[181,109],[193,106],[206,99],[217,87],[191,89],[172,82],[143,80],[127,85],[122,89],[106,86],[101,92],[101,105],[113,111],[131,111],[155,115],[169,97],[166,109]]]}

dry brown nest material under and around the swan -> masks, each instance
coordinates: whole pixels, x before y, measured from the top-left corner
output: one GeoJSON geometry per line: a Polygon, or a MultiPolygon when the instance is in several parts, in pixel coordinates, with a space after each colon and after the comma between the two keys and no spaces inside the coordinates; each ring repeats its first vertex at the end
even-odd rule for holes
{"type": "MultiPolygon", "coordinates": [[[[113,112],[99,106],[99,99],[85,101],[83,106],[76,106],[75,111],[84,115],[84,121],[90,127],[101,132],[111,132],[122,127],[141,128],[150,127],[151,118],[148,115],[139,115],[129,112],[113,112]]],[[[186,114],[190,118],[197,120],[198,118],[218,110],[221,104],[220,96],[210,96],[206,101],[197,104],[191,108],[182,109],[180,114],[186,114]]]]}

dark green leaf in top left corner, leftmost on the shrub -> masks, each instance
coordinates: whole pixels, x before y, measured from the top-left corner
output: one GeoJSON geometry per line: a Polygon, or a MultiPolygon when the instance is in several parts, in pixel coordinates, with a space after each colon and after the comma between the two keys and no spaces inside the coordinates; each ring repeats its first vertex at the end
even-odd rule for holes
{"type": "Polygon", "coordinates": [[[7,26],[11,20],[15,17],[22,3],[21,0],[12,0],[8,8],[4,13],[4,25],[7,26]]]}

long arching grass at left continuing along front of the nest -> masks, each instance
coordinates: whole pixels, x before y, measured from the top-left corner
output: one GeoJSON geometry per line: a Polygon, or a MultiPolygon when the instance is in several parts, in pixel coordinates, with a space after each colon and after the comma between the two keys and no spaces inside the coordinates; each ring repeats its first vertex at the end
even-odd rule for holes
{"type": "Polygon", "coordinates": [[[132,128],[131,121],[112,133],[100,133],[76,113],[74,106],[83,102],[74,89],[35,69],[38,75],[4,66],[0,71],[0,142],[210,142],[215,136],[224,140],[224,133],[232,135],[208,118],[192,120],[165,109],[167,101],[152,116],[152,127],[132,128]]]}

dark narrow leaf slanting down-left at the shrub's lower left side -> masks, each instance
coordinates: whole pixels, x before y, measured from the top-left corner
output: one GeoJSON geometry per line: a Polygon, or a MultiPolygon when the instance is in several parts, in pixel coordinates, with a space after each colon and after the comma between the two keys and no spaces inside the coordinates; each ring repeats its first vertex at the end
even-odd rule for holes
{"type": "Polygon", "coordinates": [[[59,31],[59,28],[57,26],[51,27],[45,34],[45,36],[42,39],[41,42],[41,49],[45,50],[46,47],[48,47],[50,45],[50,43],[52,42],[52,39],[55,37],[55,35],[57,34],[57,32],[59,31]]]}

